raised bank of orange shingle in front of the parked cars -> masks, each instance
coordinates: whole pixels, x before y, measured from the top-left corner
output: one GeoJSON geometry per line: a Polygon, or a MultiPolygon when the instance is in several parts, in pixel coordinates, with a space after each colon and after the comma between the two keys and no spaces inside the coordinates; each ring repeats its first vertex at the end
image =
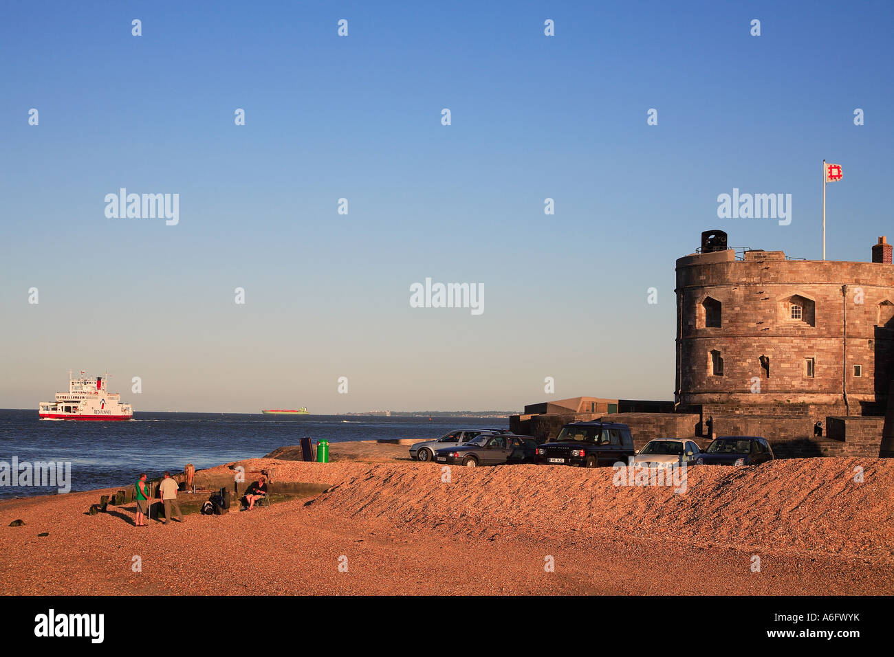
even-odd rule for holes
{"type": "Polygon", "coordinates": [[[894,562],[894,460],[780,459],[760,467],[690,467],[685,493],[617,485],[611,468],[373,465],[313,502],[445,535],[578,532],[765,553],[894,562]],[[862,483],[856,481],[862,468],[862,483]]]}

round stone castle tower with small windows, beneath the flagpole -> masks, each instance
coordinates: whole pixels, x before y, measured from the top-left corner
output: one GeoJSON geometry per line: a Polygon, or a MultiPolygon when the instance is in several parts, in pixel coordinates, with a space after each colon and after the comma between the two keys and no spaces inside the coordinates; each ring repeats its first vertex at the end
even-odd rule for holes
{"type": "Polygon", "coordinates": [[[680,410],[702,416],[880,416],[894,376],[894,265],[728,248],[722,231],[677,260],[680,410]]]}

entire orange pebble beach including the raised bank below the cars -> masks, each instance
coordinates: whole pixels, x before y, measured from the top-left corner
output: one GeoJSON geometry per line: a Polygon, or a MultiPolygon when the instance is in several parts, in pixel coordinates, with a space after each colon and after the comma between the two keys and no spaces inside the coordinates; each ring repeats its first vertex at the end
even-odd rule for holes
{"type": "Polygon", "coordinates": [[[452,467],[445,482],[406,451],[209,468],[328,486],[167,526],[133,526],[132,502],[87,513],[115,489],[3,501],[0,580],[24,595],[894,593],[890,460],[692,467],[674,493],[611,468],[452,467]]]}

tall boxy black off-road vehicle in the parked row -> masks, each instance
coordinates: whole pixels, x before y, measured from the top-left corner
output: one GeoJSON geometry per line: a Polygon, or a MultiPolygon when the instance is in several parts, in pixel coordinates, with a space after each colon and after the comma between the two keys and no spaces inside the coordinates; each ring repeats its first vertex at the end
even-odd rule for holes
{"type": "Polygon", "coordinates": [[[565,466],[603,467],[627,462],[634,455],[628,425],[617,422],[572,422],[554,440],[537,447],[536,462],[565,466]]]}

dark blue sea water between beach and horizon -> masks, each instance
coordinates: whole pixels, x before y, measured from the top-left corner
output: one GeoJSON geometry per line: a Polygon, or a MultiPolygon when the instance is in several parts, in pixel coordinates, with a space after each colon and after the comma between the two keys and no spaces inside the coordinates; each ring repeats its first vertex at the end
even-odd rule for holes
{"type": "MultiPolygon", "coordinates": [[[[41,420],[37,410],[0,409],[0,462],[71,463],[72,491],[131,484],[164,470],[181,472],[259,458],[303,436],[329,442],[434,439],[453,429],[507,428],[506,417],[266,416],[141,413],[116,422],[41,420]]],[[[0,486],[0,499],[55,494],[55,487],[0,486]]]]}

